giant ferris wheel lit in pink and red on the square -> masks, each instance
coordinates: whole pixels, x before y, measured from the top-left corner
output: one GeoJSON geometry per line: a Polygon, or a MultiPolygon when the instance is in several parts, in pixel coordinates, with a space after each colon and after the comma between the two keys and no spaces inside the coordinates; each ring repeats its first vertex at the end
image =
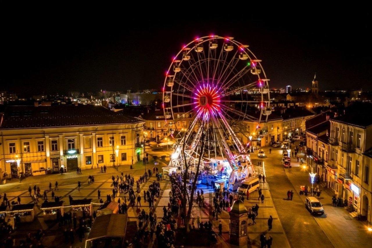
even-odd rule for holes
{"type": "Polygon", "coordinates": [[[218,35],[184,45],[166,72],[163,110],[176,142],[170,166],[222,161],[229,189],[254,175],[250,143],[234,131],[235,121],[253,121],[257,129],[271,110],[269,79],[248,45],[218,35]]]}

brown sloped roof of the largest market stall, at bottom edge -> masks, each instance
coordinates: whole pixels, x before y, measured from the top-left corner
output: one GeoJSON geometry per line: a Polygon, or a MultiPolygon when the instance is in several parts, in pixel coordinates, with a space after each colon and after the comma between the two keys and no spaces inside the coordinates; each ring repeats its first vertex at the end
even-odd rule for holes
{"type": "Polygon", "coordinates": [[[106,214],[97,216],[87,240],[102,237],[125,237],[127,214],[106,214]]]}

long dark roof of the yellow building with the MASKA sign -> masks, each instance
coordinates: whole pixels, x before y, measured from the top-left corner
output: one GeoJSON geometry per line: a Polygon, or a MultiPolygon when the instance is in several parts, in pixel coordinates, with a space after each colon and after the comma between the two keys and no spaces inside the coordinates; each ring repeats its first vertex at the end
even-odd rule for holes
{"type": "Polygon", "coordinates": [[[140,120],[103,106],[8,106],[0,129],[136,123],[140,120]]]}

